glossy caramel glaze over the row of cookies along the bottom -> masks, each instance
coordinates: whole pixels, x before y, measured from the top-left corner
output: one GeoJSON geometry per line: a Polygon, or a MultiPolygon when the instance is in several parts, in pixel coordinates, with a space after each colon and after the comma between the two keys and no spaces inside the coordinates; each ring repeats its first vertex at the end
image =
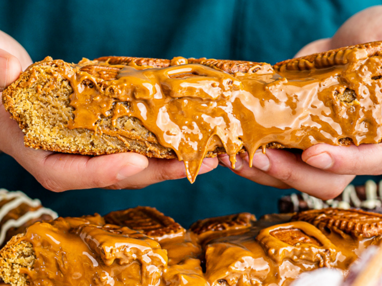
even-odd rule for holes
{"type": "MultiPolygon", "coordinates": [[[[113,217],[140,211],[142,207],[121,211],[121,215],[114,212],[113,217]]],[[[333,209],[332,215],[340,212],[333,209]]],[[[168,218],[155,209],[146,208],[145,213],[148,225],[153,219],[168,218]]],[[[307,215],[320,216],[313,211],[307,215]]],[[[364,215],[356,211],[352,219],[362,220],[364,215]]],[[[31,286],[286,286],[299,274],[320,267],[338,268],[346,275],[368,245],[380,242],[380,236],[355,237],[332,232],[330,227],[322,226],[320,231],[305,221],[285,222],[285,215],[259,221],[248,213],[238,216],[249,218],[249,223],[243,226],[234,216],[197,222],[215,233],[208,243],[206,232],[196,227],[195,232],[160,236],[156,241],[123,224],[105,224],[98,215],[38,222],[19,239],[30,242],[35,253],[33,266],[20,272],[28,275],[31,286]],[[216,221],[230,228],[216,227],[216,221]]],[[[373,216],[370,213],[369,219],[373,216]]]]}

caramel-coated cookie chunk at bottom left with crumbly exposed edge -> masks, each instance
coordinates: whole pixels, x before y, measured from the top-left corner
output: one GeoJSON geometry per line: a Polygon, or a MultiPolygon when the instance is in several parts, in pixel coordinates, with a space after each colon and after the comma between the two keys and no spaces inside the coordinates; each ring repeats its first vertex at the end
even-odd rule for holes
{"type": "Polygon", "coordinates": [[[167,266],[158,242],[127,227],[104,225],[99,215],[37,222],[11,242],[0,251],[0,276],[13,286],[89,281],[154,286],[167,266]],[[15,257],[13,249],[23,245],[29,252],[15,257]]]}

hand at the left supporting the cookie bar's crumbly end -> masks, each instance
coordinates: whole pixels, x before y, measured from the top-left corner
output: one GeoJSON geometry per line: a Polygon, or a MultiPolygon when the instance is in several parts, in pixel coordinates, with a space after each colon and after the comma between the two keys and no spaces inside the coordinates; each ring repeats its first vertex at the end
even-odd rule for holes
{"type": "MultiPolygon", "coordinates": [[[[0,31],[0,90],[15,81],[32,64],[25,49],[0,31]]],[[[147,158],[136,153],[84,156],[27,148],[23,133],[0,102],[0,150],[14,157],[43,187],[69,189],[131,189],[186,176],[183,162],[147,158]]],[[[217,166],[216,158],[204,159],[199,174],[217,166]]]]}

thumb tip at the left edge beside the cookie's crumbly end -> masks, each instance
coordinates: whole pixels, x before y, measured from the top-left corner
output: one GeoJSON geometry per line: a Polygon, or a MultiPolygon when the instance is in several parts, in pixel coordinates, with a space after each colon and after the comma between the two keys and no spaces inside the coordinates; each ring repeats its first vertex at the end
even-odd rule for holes
{"type": "Polygon", "coordinates": [[[15,81],[21,72],[19,60],[9,52],[0,49],[0,91],[15,81]]]}

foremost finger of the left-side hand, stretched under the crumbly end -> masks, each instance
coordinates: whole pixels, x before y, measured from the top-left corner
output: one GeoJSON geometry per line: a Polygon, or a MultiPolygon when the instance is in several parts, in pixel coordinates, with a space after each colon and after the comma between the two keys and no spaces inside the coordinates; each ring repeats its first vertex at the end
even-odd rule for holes
{"type": "Polygon", "coordinates": [[[140,173],[148,166],[147,157],[137,153],[84,156],[52,153],[43,158],[36,179],[47,189],[102,188],[140,173]]]}

